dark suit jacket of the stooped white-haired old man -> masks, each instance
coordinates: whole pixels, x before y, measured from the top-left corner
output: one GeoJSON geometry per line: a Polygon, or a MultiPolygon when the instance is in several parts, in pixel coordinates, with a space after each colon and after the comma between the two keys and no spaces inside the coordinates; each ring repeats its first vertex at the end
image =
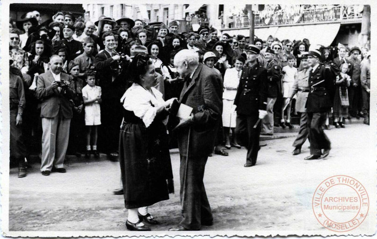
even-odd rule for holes
{"type": "MultiPolygon", "coordinates": [[[[193,108],[189,157],[207,156],[213,150],[223,113],[223,85],[220,76],[203,64],[195,70],[190,84],[184,84],[180,103],[193,108]]],[[[189,126],[177,129],[180,154],[186,156],[189,126]]]]}

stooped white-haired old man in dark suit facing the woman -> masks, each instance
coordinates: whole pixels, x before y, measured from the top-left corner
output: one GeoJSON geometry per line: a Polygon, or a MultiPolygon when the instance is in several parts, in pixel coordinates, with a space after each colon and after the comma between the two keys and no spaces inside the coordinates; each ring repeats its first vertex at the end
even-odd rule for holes
{"type": "Polygon", "coordinates": [[[204,169],[212,152],[223,111],[223,85],[220,76],[203,64],[188,49],[174,57],[174,65],[186,79],[180,103],[193,108],[191,116],[180,119],[176,126],[181,157],[180,199],[182,221],[169,231],[200,230],[212,226],[213,216],[203,184],[204,169]]]}

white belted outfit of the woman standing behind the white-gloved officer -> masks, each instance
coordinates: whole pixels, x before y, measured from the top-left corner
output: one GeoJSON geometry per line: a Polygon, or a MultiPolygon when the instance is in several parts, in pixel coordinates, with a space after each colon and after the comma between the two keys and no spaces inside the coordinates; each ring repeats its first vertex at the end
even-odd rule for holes
{"type": "Polygon", "coordinates": [[[237,95],[237,88],[240,84],[240,77],[242,71],[237,71],[236,68],[227,69],[224,75],[224,93],[223,93],[223,126],[236,127],[237,112],[235,111],[234,100],[237,95]],[[233,88],[233,89],[227,89],[233,88]]]}

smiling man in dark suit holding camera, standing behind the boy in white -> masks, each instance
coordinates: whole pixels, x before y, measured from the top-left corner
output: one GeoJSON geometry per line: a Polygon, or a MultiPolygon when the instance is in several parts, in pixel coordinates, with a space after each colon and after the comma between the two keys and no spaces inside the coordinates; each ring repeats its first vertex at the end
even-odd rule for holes
{"type": "Polygon", "coordinates": [[[98,85],[102,89],[102,105],[101,105],[101,122],[99,145],[103,146],[104,152],[109,156],[110,160],[116,160],[119,154],[118,139],[119,125],[122,121],[122,105],[119,103],[118,81],[119,63],[121,56],[115,52],[116,38],[112,32],[105,32],[102,35],[105,50],[98,53],[95,60],[97,69],[98,85]]]}

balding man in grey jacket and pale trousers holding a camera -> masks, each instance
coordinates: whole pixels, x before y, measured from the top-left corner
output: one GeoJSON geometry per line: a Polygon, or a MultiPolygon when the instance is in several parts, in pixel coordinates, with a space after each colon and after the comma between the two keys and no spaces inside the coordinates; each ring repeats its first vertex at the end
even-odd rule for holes
{"type": "Polygon", "coordinates": [[[63,162],[68,146],[72,107],[69,100],[75,95],[72,77],[62,73],[63,60],[53,55],[49,71],[38,76],[36,97],[41,100],[42,118],[42,175],[65,173],[63,162]]]}

